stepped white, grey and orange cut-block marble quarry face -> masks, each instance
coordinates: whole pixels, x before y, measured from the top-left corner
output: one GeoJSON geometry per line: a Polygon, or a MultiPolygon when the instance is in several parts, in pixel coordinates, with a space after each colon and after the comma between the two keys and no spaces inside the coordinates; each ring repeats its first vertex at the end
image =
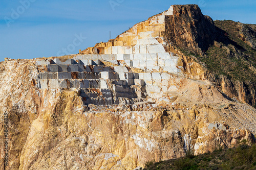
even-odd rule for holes
{"type": "Polygon", "coordinates": [[[88,54],[38,59],[41,89],[77,88],[84,104],[115,105],[125,99],[161,98],[172,75],[183,76],[178,56],[166,51],[163,37],[169,10],[137,23],[109,42],[87,48],[88,54]]]}

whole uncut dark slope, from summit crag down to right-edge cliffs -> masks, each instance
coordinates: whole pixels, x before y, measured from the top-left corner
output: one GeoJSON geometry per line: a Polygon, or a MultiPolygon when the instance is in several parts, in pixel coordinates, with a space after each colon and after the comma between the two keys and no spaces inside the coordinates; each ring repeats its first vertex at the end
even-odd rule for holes
{"type": "Polygon", "coordinates": [[[230,98],[256,106],[254,25],[231,20],[214,23],[197,7],[177,7],[176,11],[178,15],[166,22],[166,37],[173,47],[204,65],[207,79],[230,98]]]}

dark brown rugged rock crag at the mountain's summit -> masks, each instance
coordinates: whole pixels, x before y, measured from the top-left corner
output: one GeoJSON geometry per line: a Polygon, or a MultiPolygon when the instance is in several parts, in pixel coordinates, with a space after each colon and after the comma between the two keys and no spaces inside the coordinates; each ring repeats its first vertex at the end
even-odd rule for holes
{"type": "Polygon", "coordinates": [[[204,16],[198,5],[175,5],[165,17],[165,36],[181,50],[202,55],[214,42],[214,21],[204,16]]]}

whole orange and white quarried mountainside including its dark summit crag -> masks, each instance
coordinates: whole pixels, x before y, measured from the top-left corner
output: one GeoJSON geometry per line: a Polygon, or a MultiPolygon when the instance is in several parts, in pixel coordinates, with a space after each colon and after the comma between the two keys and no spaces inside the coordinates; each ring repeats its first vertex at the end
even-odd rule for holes
{"type": "Polygon", "coordinates": [[[0,169],[134,169],[254,142],[256,109],[196,56],[214,31],[197,5],[174,5],[78,55],[1,62],[0,169]]]}

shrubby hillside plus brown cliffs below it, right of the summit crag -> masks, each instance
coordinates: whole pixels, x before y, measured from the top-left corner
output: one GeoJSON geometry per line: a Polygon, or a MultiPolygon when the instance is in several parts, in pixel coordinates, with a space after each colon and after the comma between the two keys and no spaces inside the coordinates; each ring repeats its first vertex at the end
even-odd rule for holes
{"type": "Polygon", "coordinates": [[[215,74],[214,77],[208,76],[209,80],[230,98],[256,106],[256,51],[253,46],[256,33],[252,27],[230,20],[216,21],[216,30],[214,45],[206,52],[208,59],[201,59],[215,74]],[[213,60],[219,66],[211,64],[213,60]]]}

